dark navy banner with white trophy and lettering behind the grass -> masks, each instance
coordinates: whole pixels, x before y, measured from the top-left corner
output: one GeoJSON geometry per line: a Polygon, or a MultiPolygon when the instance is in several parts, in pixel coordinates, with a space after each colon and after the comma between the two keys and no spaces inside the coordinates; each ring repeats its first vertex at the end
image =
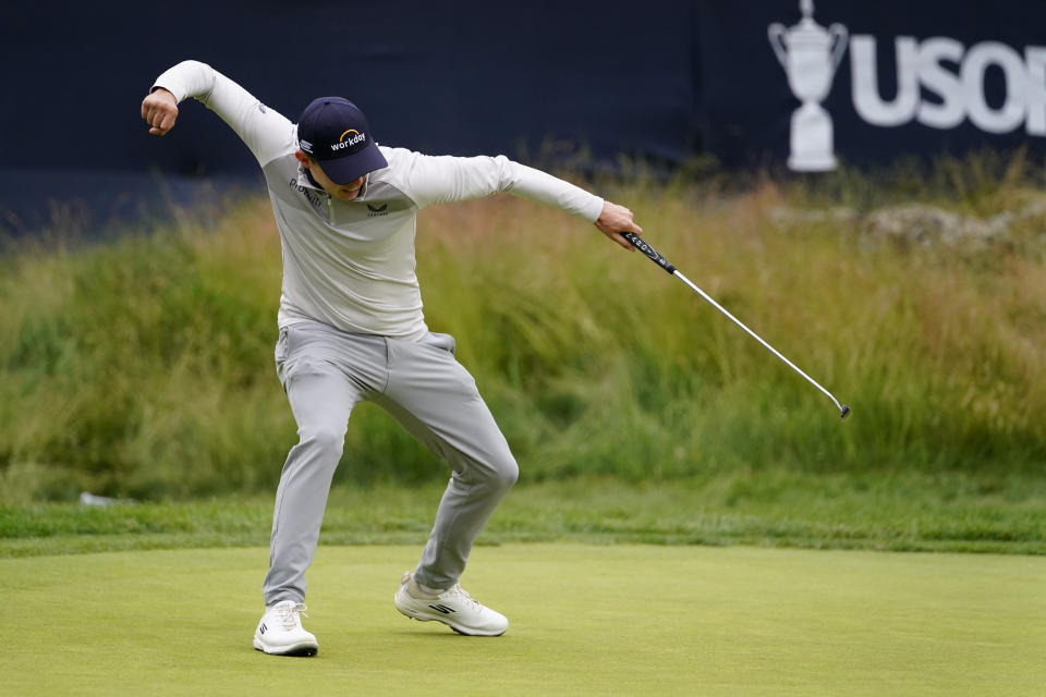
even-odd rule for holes
{"type": "Polygon", "coordinates": [[[147,134],[142,97],[187,58],[292,120],[349,97],[379,142],[426,152],[826,172],[1043,152],[1043,26],[1046,3],[1026,0],[19,3],[0,23],[0,232],[256,186],[247,149],[200,105],[147,134]]]}

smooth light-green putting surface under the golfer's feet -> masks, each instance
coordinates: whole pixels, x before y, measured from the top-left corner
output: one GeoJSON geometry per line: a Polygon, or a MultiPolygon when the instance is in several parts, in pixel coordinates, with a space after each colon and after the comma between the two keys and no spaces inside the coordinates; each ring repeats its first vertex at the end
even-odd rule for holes
{"type": "Polygon", "coordinates": [[[320,547],[315,658],[251,647],[267,550],[0,561],[2,695],[1042,695],[1046,559],[506,545],[463,585],[512,622],[392,607],[413,547],[320,547]]]}

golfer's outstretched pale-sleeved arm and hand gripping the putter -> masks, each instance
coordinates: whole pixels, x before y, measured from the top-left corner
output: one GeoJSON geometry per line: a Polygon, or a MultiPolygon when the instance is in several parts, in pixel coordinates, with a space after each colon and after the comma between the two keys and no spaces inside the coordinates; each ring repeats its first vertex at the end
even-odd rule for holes
{"type": "Polygon", "coordinates": [[[643,234],[632,211],[589,194],[580,186],[540,170],[498,157],[430,157],[416,155],[406,170],[409,195],[418,208],[492,196],[504,192],[559,208],[592,222],[625,249],[634,247],[622,232],[643,234]]]}

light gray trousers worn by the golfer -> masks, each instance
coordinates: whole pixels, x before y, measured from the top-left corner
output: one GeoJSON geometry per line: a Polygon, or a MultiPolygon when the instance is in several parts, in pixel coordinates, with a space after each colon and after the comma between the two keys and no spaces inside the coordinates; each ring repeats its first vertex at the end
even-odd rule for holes
{"type": "Polygon", "coordinates": [[[380,405],[450,464],[450,484],[415,577],[430,588],[458,582],[476,536],[515,484],[519,467],[475,380],[453,354],[449,334],[402,341],[320,322],[280,331],[277,372],[297,421],[299,442],[276,492],[266,606],[305,598],[305,570],[316,552],[349,416],[362,400],[380,405]]]}

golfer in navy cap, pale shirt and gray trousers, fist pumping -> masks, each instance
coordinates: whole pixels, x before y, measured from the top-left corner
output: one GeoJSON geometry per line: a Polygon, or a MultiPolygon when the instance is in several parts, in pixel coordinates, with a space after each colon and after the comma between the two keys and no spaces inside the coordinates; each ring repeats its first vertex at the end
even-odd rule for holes
{"type": "Polygon", "coordinates": [[[297,423],[276,492],[266,610],[254,647],[312,656],[302,627],[313,561],[353,406],[376,402],[446,460],[450,484],[396,608],[465,635],[509,626],[458,580],[476,536],[519,467],[454,340],[425,325],[414,273],[417,211],[507,192],[619,234],[642,232],[632,212],[572,184],[498,157],[430,157],[379,146],[364,113],[340,97],[309,103],[296,124],[209,65],[185,61],[160,75],[142,102],[149,133],[166,135],[193,97],[232,126],[265,174],[283,253],[277,375],[297,423]]]}

